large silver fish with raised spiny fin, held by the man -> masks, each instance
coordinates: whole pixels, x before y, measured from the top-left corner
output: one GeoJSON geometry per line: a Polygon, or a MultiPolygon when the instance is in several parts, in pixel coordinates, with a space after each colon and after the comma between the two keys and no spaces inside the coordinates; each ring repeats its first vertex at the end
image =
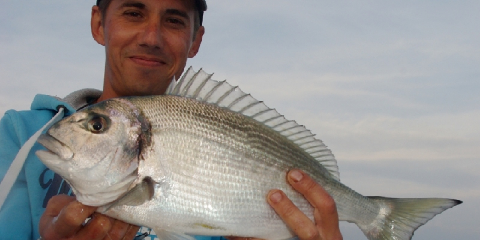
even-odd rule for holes
{"type": "Polygon", "coordinates": [[[312,220],[312,206],[286,181],[300,168],[335,199],[341,221],[370,240],[407,240],[461,203],[441,198],[364,197],[340,183],[322,141],[275,109],[189,69],[166,95],[114,98],[67,117],[38,140],[37,156],[78,201],[154,228],[162,239],[191,235],[269,240],[294,233],[267,204],[281,189],[312,220]]]}

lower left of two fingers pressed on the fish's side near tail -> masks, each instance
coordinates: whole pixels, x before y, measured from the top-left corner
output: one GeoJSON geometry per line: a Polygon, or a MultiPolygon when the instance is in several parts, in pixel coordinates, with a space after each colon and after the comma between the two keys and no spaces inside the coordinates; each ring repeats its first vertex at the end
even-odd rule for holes
{"type": "Polygon", "coordinates": [[[301,240],[320,239],[319,232],[312,220],[303,214],[284,192],[280,190],[270,191],[267,195],[267,201],[301,240]]]}

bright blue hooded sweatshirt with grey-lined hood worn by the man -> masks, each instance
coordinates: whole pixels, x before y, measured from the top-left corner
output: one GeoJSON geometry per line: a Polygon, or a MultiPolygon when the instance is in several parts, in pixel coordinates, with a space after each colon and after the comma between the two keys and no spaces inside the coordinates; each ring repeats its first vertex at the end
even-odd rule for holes
{"type": "MultiPolygon", "coordinates": [[[[8,110],[0,120],[0,179],[3,180],[20,148],[64,106],[65,116],[88,106],[101,91],[84,89],[63,99],[38,94],[31,110],[8,110]]],[[[70,186],[58,174],[49,170],[35,155],[45,149],[36,143],[30,150],[10,194],[0,209],[0,239],[37,240],[38,223],[48,200],[58,194],[73,195],[70,186]]],[[[197,240],[220,240],[221,237],[197,236],[197,240]]],[[[138,240],[157,239],[149,228],[140,228],[138,240]],[[149,234],[151,233],[151,234],[149,234]]]]}

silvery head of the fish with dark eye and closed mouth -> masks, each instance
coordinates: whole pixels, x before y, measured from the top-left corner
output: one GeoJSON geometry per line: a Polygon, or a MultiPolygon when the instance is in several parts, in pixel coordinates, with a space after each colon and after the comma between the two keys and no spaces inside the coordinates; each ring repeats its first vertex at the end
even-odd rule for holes
{"type": "Polygon", "coordinates": [[[127,99],[110,99],[55,123],[36,155],[71,186],[77,200],[101,206],[128,192],[137,178],[149,124],[127,99]]]}

